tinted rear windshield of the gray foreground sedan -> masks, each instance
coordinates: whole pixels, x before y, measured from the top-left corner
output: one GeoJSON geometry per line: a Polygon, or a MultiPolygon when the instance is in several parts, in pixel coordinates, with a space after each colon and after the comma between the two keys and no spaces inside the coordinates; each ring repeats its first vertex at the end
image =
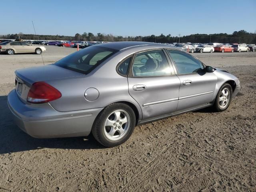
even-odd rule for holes
{"type": "Polygon", "coordinates": [[[116,52],[117,50],[110,48],[91,46],[66,56],[54,65],[88,74],[116,52]]]}

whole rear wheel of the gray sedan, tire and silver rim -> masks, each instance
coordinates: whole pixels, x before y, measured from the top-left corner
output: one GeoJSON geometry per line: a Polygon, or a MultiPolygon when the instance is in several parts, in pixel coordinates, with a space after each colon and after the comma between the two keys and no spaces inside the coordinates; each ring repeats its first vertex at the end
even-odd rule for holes
{"type": "Polygon", "coordinates": [[[118,146],[132,135],[135,120],[134,111],[130,106],[123,103],[110,104],[95,119],[92,134],[106,147],[118,146]]]}

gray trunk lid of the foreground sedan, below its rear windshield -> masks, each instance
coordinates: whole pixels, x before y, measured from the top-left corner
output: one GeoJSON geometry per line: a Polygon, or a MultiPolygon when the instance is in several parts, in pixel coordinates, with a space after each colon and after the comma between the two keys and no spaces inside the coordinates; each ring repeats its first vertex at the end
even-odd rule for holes
{"type": "Polygon", "coordinates": [[[15,89],[22,102],[26,102],[30,87],[35,82],[84,75],[53,64],[16,70],[15,74],[15,89]]]}

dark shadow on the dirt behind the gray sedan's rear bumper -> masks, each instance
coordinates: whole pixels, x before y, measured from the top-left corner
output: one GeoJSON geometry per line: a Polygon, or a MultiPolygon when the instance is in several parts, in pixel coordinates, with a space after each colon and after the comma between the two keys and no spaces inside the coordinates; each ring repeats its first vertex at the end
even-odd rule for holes
{"type": "Polygon", "coordinates": [[[75,138],[38,139],[20,130],[13,123],[7,96],[0,96],[0,154],[35,150],[40,148],[101,149],[92,135],[75,138]]]}

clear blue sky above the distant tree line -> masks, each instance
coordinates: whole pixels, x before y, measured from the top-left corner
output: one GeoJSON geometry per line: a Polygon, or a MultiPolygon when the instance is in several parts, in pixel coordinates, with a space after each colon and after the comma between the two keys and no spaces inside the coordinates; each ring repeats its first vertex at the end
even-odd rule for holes
{"type": "Polygon", "coordinates": [[[256,0],[1,0],[0,34],[256,32],[256,0]]]}

